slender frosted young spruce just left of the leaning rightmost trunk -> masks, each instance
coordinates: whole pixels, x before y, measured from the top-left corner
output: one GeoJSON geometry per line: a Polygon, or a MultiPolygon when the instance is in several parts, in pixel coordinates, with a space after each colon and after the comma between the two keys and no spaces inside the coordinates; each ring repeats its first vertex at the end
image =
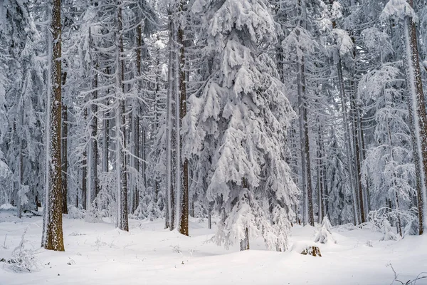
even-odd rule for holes
{"type": "MultiPolygon", "coordinates": [[[[401,99],[401,90],[396,88],[398,78],[398,68],[381,66],[362,76],[359,96],[367,103],[367,109],[374,109],[376,121],[374,140],[363,162],[363,181],[371,187],[375,209],[391,201],[399,213],[403,203],[411,204],[416,175],[407,123],[408,106],[401,99]]],[[[399,214],[396,227],[402,234],[399,214]]]]}

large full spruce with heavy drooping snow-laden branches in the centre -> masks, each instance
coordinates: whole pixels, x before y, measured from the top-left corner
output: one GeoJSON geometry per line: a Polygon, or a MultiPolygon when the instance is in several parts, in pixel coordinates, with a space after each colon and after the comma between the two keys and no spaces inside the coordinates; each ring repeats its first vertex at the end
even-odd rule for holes
{"type": "Polygon", "coordinates": [[[215,240],[245,250],[250,237],[261,236],[283,251],[298,193],[284,145],[294,113],[265,52],[277,41],[268,1],[196,0],[191,12],[206,20],[200,32],[209,35],[213,68],[189,98],[183,155],[197,164],[201,151],[209,152],[207,197],[221,217],[215,240]]]}

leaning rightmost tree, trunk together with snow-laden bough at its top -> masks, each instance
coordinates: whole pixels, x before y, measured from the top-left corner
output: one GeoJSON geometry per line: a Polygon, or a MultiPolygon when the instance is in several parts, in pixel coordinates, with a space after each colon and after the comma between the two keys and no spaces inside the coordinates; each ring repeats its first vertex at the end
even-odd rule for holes
{"type": "Polygon", "coordinates": [[[416,14],[413,10],[413,0],[390,0],[381,13],[381,19],[386,21],[390,18],[397,19],[402,24],[403,30],[404,68],[408,88],[409,115],[413,127],[412,143],[413,150],[416,152],[414,155],[416,175],[421,178],[421,187],[417,187],[419,233],[423,234],[423,229],[427,223],[427,115],[418,57],[416,14]]]}

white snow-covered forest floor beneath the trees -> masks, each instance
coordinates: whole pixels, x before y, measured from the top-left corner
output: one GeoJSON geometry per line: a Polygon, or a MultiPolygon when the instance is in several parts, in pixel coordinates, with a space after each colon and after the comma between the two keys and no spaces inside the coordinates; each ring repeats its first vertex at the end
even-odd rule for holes
{"type": "MultiPolygon", "coordinates": [[[[38,269],[14,271],[0,262],[0,284],[401,284],[427,271],[427,236],[380,242],[369,229],[335,228],[337,244],[317,244],[322,257],[266,251],[262,240],[239,252],[209,242],[214,229],[191,219],[191,237],[164,229],[163,221],[130,219],[130,232],[108,222],[63,219],[65,252],[40,249],[41,217],[18,219],[0,210],[0,260],[24,239],[36,250],[38,269]],[[4,242],[5,236],[6,240],[4,242]],[[370,242],[368,242],[370,241],[370,242]],[[367,245],[371,243],[372,247],[367,245]],[[394,283],[393,283],[394,282],[394,283]]],[[[292,229],[291,244],[314,244],[313,227],[292,229]]],[[[296,246],[295,246],[296,244],[296,246]]],[[[416,284],[427,284],[421,279],[416,284]]]]}

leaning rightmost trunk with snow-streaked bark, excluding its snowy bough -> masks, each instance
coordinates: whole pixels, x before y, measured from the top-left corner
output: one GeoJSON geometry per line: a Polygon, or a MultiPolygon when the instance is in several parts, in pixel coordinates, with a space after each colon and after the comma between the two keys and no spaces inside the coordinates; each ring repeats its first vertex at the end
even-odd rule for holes
{"type": "MultiPolygon", "coordinates": [[[[413,0],[408,0],[413,6],[413,0]]],[[[405,69],[406,83],[409,90],[409,108],[413,118],[414,152],[418,155],[418,175],[421,177],[421,187],[417,187],[419,234],[423,234],[426,227],[426,185],[427,185],[427,116],[426,104],[423,94],[423,83],[421,82],[421,70],[418,59],[418,42],[416,37],[416,26],[410,16],[404,20],[404,42],[406,46],[405,69]]],[[[418,176],[417,175],[417,176],[418,176]]]]}

